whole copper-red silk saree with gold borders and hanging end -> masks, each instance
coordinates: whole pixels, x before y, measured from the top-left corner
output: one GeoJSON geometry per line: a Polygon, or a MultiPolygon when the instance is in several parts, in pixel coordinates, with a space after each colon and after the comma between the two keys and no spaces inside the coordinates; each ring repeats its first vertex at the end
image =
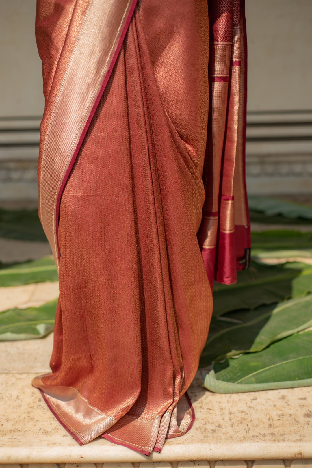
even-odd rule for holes
{"type": "Polygon", "coordinates": [[[52,373],[33,385],[80,444],[149,455],[194,421],[213,272],[234,282],[248,263],[243,6],[115,0],[103,26],[105,1],[37,2],[60,296],[52,373]]]}

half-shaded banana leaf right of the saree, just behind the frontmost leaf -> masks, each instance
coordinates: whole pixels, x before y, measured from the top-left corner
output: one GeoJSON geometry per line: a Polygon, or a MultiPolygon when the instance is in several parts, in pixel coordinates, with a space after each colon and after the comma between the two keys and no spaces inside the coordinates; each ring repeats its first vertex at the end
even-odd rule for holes
{"type": "Polygon", "coordinates": [[[254,311],[242,310],[226,314],[225,317],[213,317],[199,367],[206,367],[213,360],[261,351],[311,326],[312,294],[276,305],[262,306],[254,311]]]}

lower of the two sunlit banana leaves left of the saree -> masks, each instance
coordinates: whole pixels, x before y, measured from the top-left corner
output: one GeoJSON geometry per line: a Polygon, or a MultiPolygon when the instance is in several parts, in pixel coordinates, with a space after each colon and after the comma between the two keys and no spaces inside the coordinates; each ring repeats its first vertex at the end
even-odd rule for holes
{"type": "Polygon", "coordinates": [[[43,338],[53,331],[58,300],[40,307],[10,309],[0,314],[0,341],[43,338]]]}

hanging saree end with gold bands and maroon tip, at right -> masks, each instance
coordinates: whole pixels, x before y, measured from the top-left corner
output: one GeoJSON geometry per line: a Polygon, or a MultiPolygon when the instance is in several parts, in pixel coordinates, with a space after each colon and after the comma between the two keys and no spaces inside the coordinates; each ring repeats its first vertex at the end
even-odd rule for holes
{"type": "Polygon", "coordinates": [[[205,202],[198,231],[210,285],[236,282],[249,267],[245,178],[247,42],[245,3],[208,0],[209,120],[203,168],[205,202]]]}

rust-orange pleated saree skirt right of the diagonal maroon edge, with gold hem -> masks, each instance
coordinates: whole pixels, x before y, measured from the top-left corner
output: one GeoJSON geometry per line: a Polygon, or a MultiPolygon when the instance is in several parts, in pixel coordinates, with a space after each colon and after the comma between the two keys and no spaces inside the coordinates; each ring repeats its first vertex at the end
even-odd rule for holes
{"type": "Polygon", "coordinates": [[[196,238],[208,9],[182,3],[136,10],[65,185],[52,373],[34,381],[82,443],[102,434],[146,454],[194,420],[184,394],[212,310],[196,238]]]}

